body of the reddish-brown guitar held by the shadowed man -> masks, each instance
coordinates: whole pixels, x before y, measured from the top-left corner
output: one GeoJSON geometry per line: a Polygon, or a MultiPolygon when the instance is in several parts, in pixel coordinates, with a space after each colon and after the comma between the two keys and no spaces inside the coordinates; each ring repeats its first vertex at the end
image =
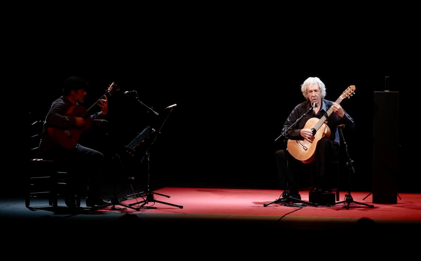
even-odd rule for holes
{"type": "MultiPolygon", "coordinates": [[[[65,116],[80,117],[85,113],[86,108],[81,105],[72,105],[66,112],[65,116]]],[[[85,116],[85,124],[80,128],[75,129],[59,129],[55,127],[47,128],[48,134],[54,144],[61,146],[64,149],[70,150],[75,148],[79,141],[80,134],[91,127],[92,119],[90,115],[85,116]]]]}

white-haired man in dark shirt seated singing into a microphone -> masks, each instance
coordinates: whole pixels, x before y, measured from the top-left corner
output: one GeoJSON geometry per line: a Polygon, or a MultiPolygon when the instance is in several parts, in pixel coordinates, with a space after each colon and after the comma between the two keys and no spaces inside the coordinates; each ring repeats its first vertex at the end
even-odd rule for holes
{"type": "MultiPolygon", "coordinates": [[[[306,113],[306,116],[301,118],[298,123],[288,131],[288,138],[290,140],[307,140],[311,142],[313,132],[311,129],[304,129],[304,125],[310,118],[322,118],[323,115],[332,108],[334,113],[328,117],[328,127],[330,128],[330,137],[322,138],[316,147],[314,153],[314,161],[305,164],[313,173],[313,189],[316,191],[325,191],[326,187],[326,163],[334,158],[339,150],[339,134],[336,131],[337,126],[344,124],[346,129],[354,129],[354,120],[341,107],[341,105],[330,100],[325,100],[326,87],[325,84],[317,77],[309,77],[301,85],[301,92],[307,101],[298,104],[288,119],[285,121],[282,131],[285,131],[291,124],[293,124],[301,115],[312,108],[315,103],[314,111],[306,113]]],[[[280,180],[280,187],[282,190],[289,190],[290,196],[301,199],[298,194],[298,177],[297,170],[303,168],[304,163],[296,160],[286,150],[278,150],[275,153],[277,162],[278,175],[280,180]]],[[[306,167],[307,167],[306,166],[306,167]]]]}

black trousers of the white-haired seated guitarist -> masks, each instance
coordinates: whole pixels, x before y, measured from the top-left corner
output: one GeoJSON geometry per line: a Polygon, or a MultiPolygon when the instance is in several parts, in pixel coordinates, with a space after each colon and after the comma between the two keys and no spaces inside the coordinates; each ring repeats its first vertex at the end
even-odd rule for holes
{"type": "Polygon", "coordinates": [[[278,150],[275,153],[278,177],[281,190],[289,190],[291,195],[298,194],[298,171],[310,173],[314,179],[313,187],[323,188],[328,176],[327,164],[336,156],[337,149],[334,148],[329,139],[321,139],[317,143],[314,161],[302,163],[291,156],[286,150],[278,150]]]}

